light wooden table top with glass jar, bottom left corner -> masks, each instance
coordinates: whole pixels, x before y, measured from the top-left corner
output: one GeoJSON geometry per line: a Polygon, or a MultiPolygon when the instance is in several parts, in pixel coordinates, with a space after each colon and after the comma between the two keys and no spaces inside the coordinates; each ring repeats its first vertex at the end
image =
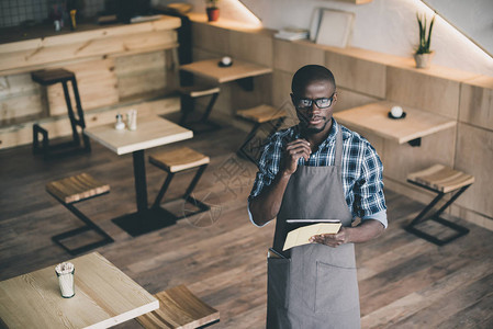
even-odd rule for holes
{"type": "Polygon", "coordinates": [[[108,328],[159,308],[153,295],[100,253],[70,262],[71,298],[61,297],[55,265],[0,282],[1,321],[8,328],[108,328]]]}

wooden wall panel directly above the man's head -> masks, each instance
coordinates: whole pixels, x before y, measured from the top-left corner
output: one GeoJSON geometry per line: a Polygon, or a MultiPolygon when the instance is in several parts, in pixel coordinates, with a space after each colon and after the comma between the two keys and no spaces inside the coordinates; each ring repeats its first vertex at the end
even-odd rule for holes
{"type": "Polygon", "coordinates": [[[273,39],[273,68],[294,73],[309,64],[325,64],[324,49],[315,45],[273,39]]]}

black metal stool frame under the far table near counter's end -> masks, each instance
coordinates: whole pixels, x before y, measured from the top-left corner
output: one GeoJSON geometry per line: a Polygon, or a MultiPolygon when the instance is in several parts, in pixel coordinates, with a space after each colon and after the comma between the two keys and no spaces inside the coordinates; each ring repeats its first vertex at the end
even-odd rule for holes
{"type": "MultiPolygon", "coordinates": [[[[214,107],[215,101],[217,100],[217,97],[220,95],[219,92],[214,92],[212,94],[210,94],[211,100],[209,101],[208,107],[205,109],[204,114],[202,115],[202,117],[198,121],[198,122],[191,122],[191,123],[187,123],[187,117],[189,116],[189,114],[191,114],[194,109],[195,109],[195,99],[197,98],[192,98],[188,94],[182,94],[180,97],[180,105],[181,105],[181,117],[179,121],[179,125],[187,127],[189,129],[192,129],[193,133],[195,134],[200,134],[200,133],[205,133],[205,132],[213,132],[213,131],[217,131],[221,128],[221,126],[212,121],[209,121],[209,115],[212,112],[212,109],[214,107]],[[206,125],[209,128],[205,129],[197,129],[193,128],[193,126],[195,126],[197,124],[203,124],[206,125]]],[[[203,98],[203,97],[208,97],[208,95],[202,95],[199,98],[203,98]]]]}

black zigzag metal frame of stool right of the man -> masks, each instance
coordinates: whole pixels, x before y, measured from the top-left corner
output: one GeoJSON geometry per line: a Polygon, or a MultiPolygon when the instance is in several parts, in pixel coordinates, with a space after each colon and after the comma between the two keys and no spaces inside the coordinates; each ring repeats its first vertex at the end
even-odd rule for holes
{"type": "MultiPolygon", "coordinates": [[[[428,190],[428,191],[432,191],[432,192],[435,192],[435,193],[438,193],[438,195],[419,213],[419,215],[417,215],[417,217],[416,218],[414,218],[413,219],[413,222],[411,222],[411,224],[410,225],[407,225],[407,226],[405,226],[404,227],[404,229],[405,230],[407,230],[408,232],[412,232],[412,234],[414,234],[415,236],[417,236],[417,237],[419,237],[419,238],[422,238],[422,239],[425,239],[425,240],[427,240],[427,241],[429,241],[429,242],[433,242],[433,243],[435,243],[435,245],[438,245],[438,246],[444,246],[444,245],[446,245],[446,243],[449,243],[449,242],[451,242],[451,241],[453,241],[453,240],[456,240],[457,238],[460,238],[460,237],[462,237],[462,236],[464,236],[464,235],[467,235],[468,232],[469,232],[469,229],[468,228],[466,228],[466,227],[463,227],[463,226],[460,226],[460,225],[458,225],[458,224],[456,224],[456,223],[452,223],[452,222],[450,222],[450,220],[447,220],[447,219],[445,219],[445,218],[442,218],[442,217],[440,217],[440,215],[444,213],[444,211],[448,207],[448,206],[450,206],[471,184],[469,184],[469,185],[466,185],[466,186],[462,186],[459,191],[457,191],[451,197],[450,197],[450,200],[449,201],[447,201],[447,203],[444,205],[444,206],[441,206],[437,212],[435,212],[434,214],[432,214],[432,216],[429,216],[428,218],[425,218],[425,215],[446,195],[446,194],[448,194],[448,193],[444,193],[444,192],[439,192],[439,191],[437,191],[437,190],[435,190],[435,189],[432,189],[432,188],[429,188],[429,186],[426,186],[426,185],[423,185],[423,184],[419,184],[419,183],[417,183],[417,182],[414,182],[414,181],[411,181],[411,180],[407,180],[410,183],[412,183],[412,184],[415,184],[415,185],[417,185],[417,186],[421,186],[421,188],[423,188],[423,189],[426,189],[426,190],[428,190]],[[425,219],[424,219],[425,218],[425,219]],[[447,226],[447,227],[449,227],[450,229],[452,229],[452,230],[455,230],[456,231],[456,234],[455,235],[452,235],[452,236],[450,236],[450,237],[448,237],[448,238],[446,238],[446,239],[439,239],[439,238],[437,238],[437,237],[435,237],[435,236],[433,236],[433,235],[430,235],[430,234],[427,234],[426,231],[424,231],[424,230],[421,230],[419,228],[417,228],[416,227],[416,225],[418,225],[418,224],[421,224],[421,223],[424,223],[424,222],[426,222],[426,220],[434,220],[434,222],[436,222],[436,223],[438,223],[438,224],[441,224],[441,225],[444,225],[444,226],[447,226]]],[[[450,192],[449,192],[450,193],[450,192]]]]}

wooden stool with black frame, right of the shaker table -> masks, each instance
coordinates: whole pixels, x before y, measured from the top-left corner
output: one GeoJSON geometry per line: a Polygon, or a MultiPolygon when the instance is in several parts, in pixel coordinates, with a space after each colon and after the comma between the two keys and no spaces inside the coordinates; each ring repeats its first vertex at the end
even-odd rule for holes
{"type": "Polygon", "coordinates": [[[149,156],[149,162],[168,173],[161,189],[159,190],[159,193],[156,196],[153,207],[160,206],[161,200],[165,197],[165,193],[168,190],[176,173],[199,168],[192,181],[190,182],[190,185],[187,188],[187,192],[184,192],[183,196],[181,197],[199,209],[197,212],[188,213],[187,215],[183,214],[181,216],[176,216],[175,214],[171,214],[163,207],[161,208],[167,212],[168,215],[173,219],[180,219],[186,216],[192,216],[210,209],[210,206],[191,196],[193,189],[195,189],[195,185],[202,177],[202,173],[209,166],[209,157],[201,155],[191,148],[182,147],[171,151],[152,155],[149,156]]]}

